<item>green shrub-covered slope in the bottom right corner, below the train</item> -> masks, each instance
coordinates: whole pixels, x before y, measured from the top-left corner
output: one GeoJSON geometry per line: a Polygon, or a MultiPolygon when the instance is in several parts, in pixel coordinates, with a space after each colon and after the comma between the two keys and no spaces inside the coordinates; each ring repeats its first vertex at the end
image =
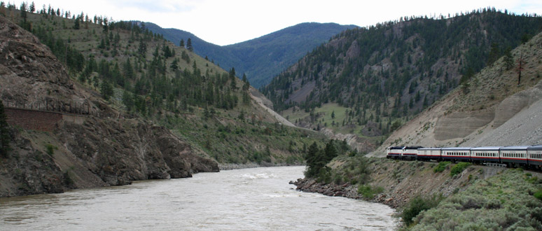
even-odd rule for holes
{"type": "Polygon", "coordinates": [[[508,169],[422,212],[412,230],[542,230],[541,189],[536,176],[508,169]]]}

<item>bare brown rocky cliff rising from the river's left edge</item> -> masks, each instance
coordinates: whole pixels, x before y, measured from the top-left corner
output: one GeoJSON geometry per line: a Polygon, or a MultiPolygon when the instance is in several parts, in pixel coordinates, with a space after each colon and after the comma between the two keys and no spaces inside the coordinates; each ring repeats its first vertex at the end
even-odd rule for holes
{"type": "Polygon", "coordinates": [[[85,105],[87,110],[81,119],[60,120],[53,132],[11,127],[13,150],[9,158],[0,159],[0,197],[218,171],[214,160],[164,127],[125,119],[97,92],[72,81],[36,37],[3,17],[0,86],[0,99],[12,105],[60,112],[85,105]]]}

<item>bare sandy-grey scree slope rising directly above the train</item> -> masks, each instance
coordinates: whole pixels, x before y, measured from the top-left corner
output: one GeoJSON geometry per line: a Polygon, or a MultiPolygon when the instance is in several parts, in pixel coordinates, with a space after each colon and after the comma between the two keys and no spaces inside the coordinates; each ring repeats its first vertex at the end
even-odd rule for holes
{"type": "Polygon", "coordinates": [[[371,155],[384,156],[396,145],[523,146],[542,143],[542,33],[510,52],[525,64],[517,69],[506,57],[482,69],[405,123],[371,155]]]}

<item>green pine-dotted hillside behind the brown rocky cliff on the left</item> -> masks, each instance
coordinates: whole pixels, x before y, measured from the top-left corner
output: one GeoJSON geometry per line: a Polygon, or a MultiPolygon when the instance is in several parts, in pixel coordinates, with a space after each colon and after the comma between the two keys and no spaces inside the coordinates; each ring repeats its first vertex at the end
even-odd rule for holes
{"type": "MultiPolygon", "coordinates": [[[[253,100],[251,86],[235,68],[224,71],[144,25],[25,3],[3,3],[0,14],[46,44],[72,80],[115,110],[109,116],[165,126],[219,163],[302,162],[307,144],[324,140],[280,125],[253,100]]],[[[51,98],[13,95],[20,94],[1,97],[19,105],[51,98]]]]}

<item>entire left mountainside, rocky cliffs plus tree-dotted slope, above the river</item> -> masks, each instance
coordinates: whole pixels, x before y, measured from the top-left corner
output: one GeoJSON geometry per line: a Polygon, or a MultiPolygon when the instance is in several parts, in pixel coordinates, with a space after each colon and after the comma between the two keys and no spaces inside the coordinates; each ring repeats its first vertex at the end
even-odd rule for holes
{"type": "Polygon", "coordinates": [[[57,12],[0,7],[0,197],[300,164],[326,140],[160,34],[57,12]]]}

